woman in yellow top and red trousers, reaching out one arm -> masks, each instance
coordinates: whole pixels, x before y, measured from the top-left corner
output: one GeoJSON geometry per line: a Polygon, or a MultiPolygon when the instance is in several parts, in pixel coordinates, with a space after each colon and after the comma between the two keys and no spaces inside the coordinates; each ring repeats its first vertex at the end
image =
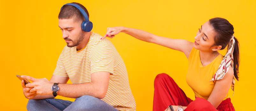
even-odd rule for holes
{"type": "Polygon", "coordinates": [[[195,42],[160,37],[139,29],[112,27],[103,36],[113,38],[120,32],[139,40],[159,44],[183,52],[188,58],[186,81],[193,89],[193,101],[167,74],[159,74],[154,82],[153,111],[234,111],[228,90],[238,80],[239,44],[234,28],[224,18],[212,18],[198,30],[195,42]],[[218,50],[228,46],[225,56],[218,50]]]}

